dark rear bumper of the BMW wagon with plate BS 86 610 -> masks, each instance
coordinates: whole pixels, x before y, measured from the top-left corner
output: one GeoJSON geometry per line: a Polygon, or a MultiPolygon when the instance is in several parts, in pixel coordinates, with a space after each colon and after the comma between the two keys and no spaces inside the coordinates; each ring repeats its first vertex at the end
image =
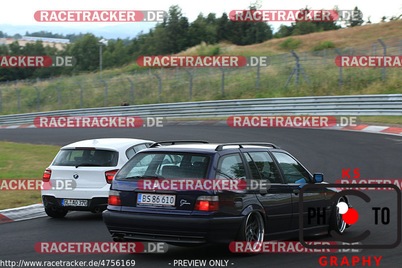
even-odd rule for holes
{"type": "Polygon", "coordinates": [[[103,220],[113,237],[175,243],[229,243],[245,216],[179,216],[105,210],[103,220]]]}

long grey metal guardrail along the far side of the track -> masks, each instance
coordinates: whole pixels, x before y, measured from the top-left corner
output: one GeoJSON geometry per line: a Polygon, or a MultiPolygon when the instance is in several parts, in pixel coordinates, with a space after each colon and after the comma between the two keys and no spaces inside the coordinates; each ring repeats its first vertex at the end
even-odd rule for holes
{"type": "Polygon", "coordinates": [[[1,124],[33,123],[37,116],[402,115],[402,94],[238,99],[59,110],[0,116],[1,124]]]}

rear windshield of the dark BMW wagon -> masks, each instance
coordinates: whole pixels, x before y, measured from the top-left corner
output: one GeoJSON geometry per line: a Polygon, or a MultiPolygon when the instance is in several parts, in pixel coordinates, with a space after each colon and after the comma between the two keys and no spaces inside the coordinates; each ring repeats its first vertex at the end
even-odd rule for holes
{"type": "Polygon", "coordinates": [[[191,154],[139,153],[116,175],[116,180],[206,179],[210,157],[191,154]]]}

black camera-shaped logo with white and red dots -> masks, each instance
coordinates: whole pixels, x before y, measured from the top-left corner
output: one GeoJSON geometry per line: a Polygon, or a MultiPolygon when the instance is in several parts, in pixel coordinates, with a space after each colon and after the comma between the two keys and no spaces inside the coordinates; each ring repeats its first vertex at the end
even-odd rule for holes
{"type": "MultiPolygon", "coordinates": [[[[317,249],[389,249],[395,248],[399,245],[401,241],[402,234],[402,216],[401,216],[401,204],[402,204],[402,195],[400,189],[394,185],[389,183],[384,184],[306,184],[300,189],[299,193],[299,241],[306,248],[317,248],[317,249]],[[305,204],[303,203],[304,195],[309,195],[310,191],[321,191],[325,192],[327,188],[349,188],[348,190],[342,190],[336,192],[331,198],[330,203],[336,204],[333,209],[336,209],[337,214],[342,215],[342,219],[345,224],[353,225],[359,219],[359,213],[356,209],[348,206],[346,202],[339,201],[344,196],[357,196],[364,200],[364,204],[370,205],[371,198],[363,193],[362,191],[352,190],[359,188],[392,188],[396,193],[396,241],[390,244],[352,244],[359,241],[364,240],[370,235],[369,230],[363,231],[361,234],[348,237],[347,235],[341,235],[335,230],[331,230],[330,234],[334,237],[334,241],[342,241],[346,242],[342,245],[313,245],[308,244],[304,240],[304,221],[305,215],[307,214],[308,224],[310,224],[314,219],[320,224],[320,220],[322,222],[326,222],[326,214],[328,212],[328,207],[308,207],[307,212],[304,211],[305,204]],[[350,189],[352,188],[352,189],[350,189]],[[338,202],[339,201],[339,202],[338,202]],[[336,203],[338,202],[338,203],[336,203]]],[[[389,215],[390,211],[388,207],[372,207],[373,211],[373,220],[374,224],[379,224],[379,222],[383,225],[387,225],[389,223],[389,215]],[[380,221],[379,221],[380,217],[380,221]]]]}

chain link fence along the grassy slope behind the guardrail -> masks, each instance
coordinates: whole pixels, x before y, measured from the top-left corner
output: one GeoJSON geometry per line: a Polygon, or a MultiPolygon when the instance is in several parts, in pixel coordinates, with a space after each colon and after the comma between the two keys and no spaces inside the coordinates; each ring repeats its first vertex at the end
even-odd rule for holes
{"type": "MultiPolygon", "coordinates": [[[[0,83],[0,114],[262,97],[348,95],[393,81],[401,68],[342,68],[339,55],[402,55],[402,36],[268,56],[267,66],[152,68],[0,83]]],[[[395,85],[398,86],[398,85],[395,85]]],[[[400,88],[400,86],[399,86],[400,88]]],[[[398,88],[395,88],[398,90],[398,88]]],[[[366,93],[366,92],[365,92],[366,93]]],[[[372,94],[397,93],[373,89],[372,94]]]]}

